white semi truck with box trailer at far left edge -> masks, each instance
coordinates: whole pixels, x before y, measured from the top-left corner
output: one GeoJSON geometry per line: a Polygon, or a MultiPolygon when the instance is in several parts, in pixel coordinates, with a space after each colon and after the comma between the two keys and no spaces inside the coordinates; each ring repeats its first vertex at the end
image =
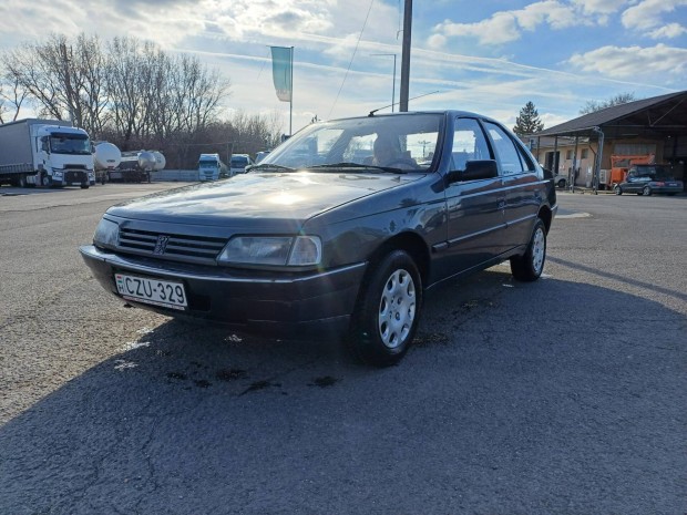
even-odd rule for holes
{"type": "Polygon", "coordinates": [[[93,148],[70,122],[27,119],[0,125],[0,184],[81,186],[95,184],[93,148]]]}

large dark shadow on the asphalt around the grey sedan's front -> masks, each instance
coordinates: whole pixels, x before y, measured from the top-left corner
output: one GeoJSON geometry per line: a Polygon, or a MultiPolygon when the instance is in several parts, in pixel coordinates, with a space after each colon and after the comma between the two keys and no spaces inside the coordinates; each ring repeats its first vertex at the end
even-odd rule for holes
{"type": "Polygon", "coordinates": [[[685,327],[502,267],[429,295],[388,369],[170,320],[0,428],[0,513],[676,513],[685,327]]]}

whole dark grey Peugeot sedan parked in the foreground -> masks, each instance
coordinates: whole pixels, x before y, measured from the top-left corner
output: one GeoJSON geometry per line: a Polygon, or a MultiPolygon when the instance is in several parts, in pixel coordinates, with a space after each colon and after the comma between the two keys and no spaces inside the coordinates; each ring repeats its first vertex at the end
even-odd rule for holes
{"type": "Polygon", "coordinates": [[[124,302],[237,331],[340,338],[398,362],[424,293],[510,261],[537,279],[551,173],[461,111],[316,123],[246,174],[111,207],[80,248],[124,302]]]}

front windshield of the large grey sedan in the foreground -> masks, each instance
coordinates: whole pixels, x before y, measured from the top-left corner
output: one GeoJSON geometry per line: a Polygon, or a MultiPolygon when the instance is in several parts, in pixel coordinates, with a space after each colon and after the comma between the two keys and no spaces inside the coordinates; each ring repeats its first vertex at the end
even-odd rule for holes
{"type": "Polygon", "coordinates": [[[260,163],[318,171],[359,165],[424,172],[432,164],[442,131],[443,115],[435,113],[315,123],[288,138],[260,163]]]}

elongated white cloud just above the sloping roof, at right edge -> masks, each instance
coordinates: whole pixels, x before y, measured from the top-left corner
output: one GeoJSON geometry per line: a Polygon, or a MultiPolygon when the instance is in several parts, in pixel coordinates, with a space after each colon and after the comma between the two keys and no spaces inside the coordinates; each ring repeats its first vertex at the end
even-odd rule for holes
{"type": "Polygon", "coordinates": [[[687,49],[665,44],[652,48],[603,47],[584,54],[574,54],[568,62],[585,73],[602,73],[617,79],[658,74],[665,79],[679,78],[687,71],[687,49]]]}

